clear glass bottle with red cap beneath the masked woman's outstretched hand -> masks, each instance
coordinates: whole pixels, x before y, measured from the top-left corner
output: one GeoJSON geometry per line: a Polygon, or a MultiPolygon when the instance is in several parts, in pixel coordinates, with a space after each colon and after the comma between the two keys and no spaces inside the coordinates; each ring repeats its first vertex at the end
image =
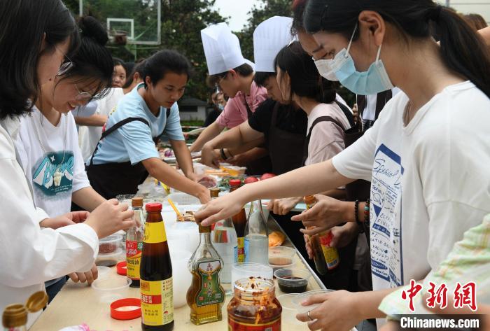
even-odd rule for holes
{"type": "MultiPolygon", "coordinates": [[[[211,188],[211,199],[216,199],[220,192],[219,188],[211,188]]],[[[237,262],[237,232],[231,218],[216,222],[211,233],[211,242],[223,259],[223,270],[221,270],[221,283],[231,283],[232,265],[237,262]]]]}

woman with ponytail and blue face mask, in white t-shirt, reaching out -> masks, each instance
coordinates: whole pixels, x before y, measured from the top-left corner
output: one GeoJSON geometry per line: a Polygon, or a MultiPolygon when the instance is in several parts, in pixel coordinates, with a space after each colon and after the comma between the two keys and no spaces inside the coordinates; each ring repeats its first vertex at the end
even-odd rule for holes
{"type": "Polygon", "coordinates": [[[298,316],[311,330],[350,330],[383,318],[385,295],[423,279],[490,212],[489,50],[458,14],[431,0],[309,0],[304,26],[327,60],[322,76],[333,73],[358,94],[393,85],[402,92],[332,160],[246,185],[196,217],[207,225],[250,200],[371,181],[374,291],[316,296],[307,304],[321,306],[298,316]]]}

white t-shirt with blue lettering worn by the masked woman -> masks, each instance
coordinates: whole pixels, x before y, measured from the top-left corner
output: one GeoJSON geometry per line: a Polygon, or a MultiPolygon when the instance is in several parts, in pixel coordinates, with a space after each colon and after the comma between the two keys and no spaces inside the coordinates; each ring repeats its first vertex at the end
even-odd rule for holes
{"type": "Polygon", "coordinates": [[[451,85],[405,127],[407,102],[397,94],[332,159],[343,176],[371,181],[373,290],[423,279],[490,212],[490,99],[451,85]]]}

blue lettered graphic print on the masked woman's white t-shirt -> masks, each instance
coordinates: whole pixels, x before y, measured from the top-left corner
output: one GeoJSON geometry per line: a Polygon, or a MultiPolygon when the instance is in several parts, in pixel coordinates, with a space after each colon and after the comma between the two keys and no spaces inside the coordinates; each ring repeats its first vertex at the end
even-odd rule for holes
{"type": "Polygon", "coordinates": [[[397,223],[395,211],[401,202],[403,167],[400,155],[384,144],[377,149],[371,183],[371,272],[391,283],[402,286],[401,216],[397,223]]]}

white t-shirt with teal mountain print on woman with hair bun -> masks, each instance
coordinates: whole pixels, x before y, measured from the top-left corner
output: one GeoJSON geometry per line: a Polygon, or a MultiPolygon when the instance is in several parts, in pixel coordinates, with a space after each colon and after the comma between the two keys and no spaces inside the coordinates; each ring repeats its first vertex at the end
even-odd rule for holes
{"type": "Polygon", "coordinates": [[[68,213],[73,192],[90,187],[71,113],[54,126],[34,107],[20,121],[15,148],[32,184],[34,203],[50,218],[68,213]]]}

